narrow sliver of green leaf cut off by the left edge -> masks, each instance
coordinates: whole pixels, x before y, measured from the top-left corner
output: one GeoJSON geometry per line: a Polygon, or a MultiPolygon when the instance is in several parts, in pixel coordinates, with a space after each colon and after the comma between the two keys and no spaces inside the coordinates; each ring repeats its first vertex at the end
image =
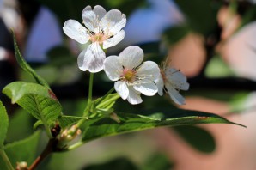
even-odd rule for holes
{"type": "Polygon", "coordinates": [[[9,120],[5,106],[0,100],[0,149],[3,148],[4,139],[8,130],[9,120]]]}

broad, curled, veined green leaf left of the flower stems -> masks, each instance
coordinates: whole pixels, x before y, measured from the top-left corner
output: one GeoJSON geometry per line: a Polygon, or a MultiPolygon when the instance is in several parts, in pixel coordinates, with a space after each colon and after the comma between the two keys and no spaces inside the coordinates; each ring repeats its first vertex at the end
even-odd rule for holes
{"type": "Polygon", "coordinates": [[[3,88],[12,103],[17,103],[49,127],[61,115],[62,107],[52,91],[31,82],[12,82],[3,88]]]}

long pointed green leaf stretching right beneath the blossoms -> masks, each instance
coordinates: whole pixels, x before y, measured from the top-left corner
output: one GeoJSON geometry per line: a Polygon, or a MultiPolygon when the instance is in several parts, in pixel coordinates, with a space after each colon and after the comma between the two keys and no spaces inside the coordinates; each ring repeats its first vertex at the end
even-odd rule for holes
{"type": "MultiPolygon", "coordinates": [[[[82,141],[95,138],[119,135],[131,131],[142,131],[161,126],[177,126],[190,124],[235,124],[226,118],[206,112],[173,109],[171,112],[160,112],[162,117],[149,117],[131,113],[117,113],[120,123],[111,118],[91,118],[82,124],[82,141]],[[165,113],[165,114],[164,114],[165,113]]],[[[238,124],[241,125],[241,124],[238,124]]],[[[243,125],[241,125],[243,126],[243,125]]]]}

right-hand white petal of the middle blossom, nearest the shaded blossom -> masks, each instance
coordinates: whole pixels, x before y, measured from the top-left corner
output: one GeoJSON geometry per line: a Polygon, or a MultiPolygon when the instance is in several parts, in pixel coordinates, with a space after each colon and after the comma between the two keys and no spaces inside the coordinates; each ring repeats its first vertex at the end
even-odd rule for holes
{"type": "Polygon", "coordinates": [[[137,69],[140,82],[154,82],[160,76],[160,69],[155,62],[146,61],[137,69]]]}

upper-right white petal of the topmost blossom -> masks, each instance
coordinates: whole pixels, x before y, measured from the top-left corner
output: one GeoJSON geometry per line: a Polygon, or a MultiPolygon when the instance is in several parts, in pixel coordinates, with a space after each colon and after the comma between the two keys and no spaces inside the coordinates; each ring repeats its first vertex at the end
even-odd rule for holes
{"type": "Polygon", "coordinates": [[[107,12],[107,14],[101,19],[100,27],[103,28],[104,33],[116,34],[125,27],[126,16],[122,14],[118,9],[113,9],[107,12]]]}

